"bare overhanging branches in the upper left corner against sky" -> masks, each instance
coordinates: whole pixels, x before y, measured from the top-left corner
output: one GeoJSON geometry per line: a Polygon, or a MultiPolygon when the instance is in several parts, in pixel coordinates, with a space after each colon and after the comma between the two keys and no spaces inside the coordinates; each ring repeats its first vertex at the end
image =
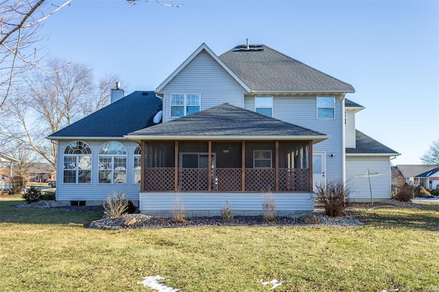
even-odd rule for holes
{"type": "Polygon", "coordinates": [[[61,5],[44,5],[46,0],[0,0],[0,108],[13,89],[21,85],[23,72],[41,68],[36,47],[41,23],[71,0],[61,5]]]}

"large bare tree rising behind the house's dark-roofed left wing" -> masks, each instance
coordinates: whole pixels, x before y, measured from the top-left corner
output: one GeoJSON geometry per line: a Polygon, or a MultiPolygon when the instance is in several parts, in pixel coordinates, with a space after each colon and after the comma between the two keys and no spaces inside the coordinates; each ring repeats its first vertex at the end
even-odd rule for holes
{"type": "Polygon", "coordinates": [[[62,71],[63,60],[51,59],[47,68],[56,73],[36,71],[27,80],[26,90],[11,95],[7,114],[0,120],[4,141],[24,143],[56,167],[56,143],[45,139],[62,127],[102,108],[110,99],[110,86],[118,80],[106,75],[97,84],[93,69],[72,63],[62,71]]]}

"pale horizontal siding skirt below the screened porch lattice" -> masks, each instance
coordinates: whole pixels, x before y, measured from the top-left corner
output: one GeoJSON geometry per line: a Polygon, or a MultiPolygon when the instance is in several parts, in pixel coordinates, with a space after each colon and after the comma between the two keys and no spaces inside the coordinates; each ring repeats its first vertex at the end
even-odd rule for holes
{"type": "MultiPolygon", "coordinates": [[[[206,212],[206,215],[220,215],[228,202],[232,212],[246,211],[259,214],[262,210],[263,193],[178,193],[187,211],[206,212]],[[217,214],[215,214],[217,212],[217,214]]],[[[311,193],[273,193],[278,212],[312,211],[311,193]]],[[[139,208],[144,213],[161,211],[167,214],[174,209],[176,193],[140,193],[139,208]]]]}

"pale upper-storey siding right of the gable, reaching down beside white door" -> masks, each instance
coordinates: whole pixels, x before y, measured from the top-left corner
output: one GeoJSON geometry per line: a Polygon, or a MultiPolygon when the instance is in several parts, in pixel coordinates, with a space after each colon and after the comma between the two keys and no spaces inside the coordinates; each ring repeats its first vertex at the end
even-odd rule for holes
{"type": "MultiPolygon", "coordinates": [[[[273,115],[276,119],[294,123],[311,130],[331,136],[329,139],[313,145],[315,151],[326,151],[326,178],[342,180],[344,177],[344,144],[342,97],[335,96],[335,119],[318,120],[316,96],[274,96],[273,115]],[[330,154],[335,154],[329,157],[330,154]]],[[[254,110],[254,98],[247,96],[244,99],[246,109],[254,110]]]]}

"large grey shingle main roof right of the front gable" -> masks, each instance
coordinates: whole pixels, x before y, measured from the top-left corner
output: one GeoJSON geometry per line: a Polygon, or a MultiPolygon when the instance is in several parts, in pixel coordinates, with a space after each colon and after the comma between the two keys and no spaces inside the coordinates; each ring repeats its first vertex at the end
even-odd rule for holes
{"type": "Polygon", "coordinates": [[[237,46],[219,56],[241,80],[256,91],[354,92],[353,86],[322,73],[270,47],[241,50],[237,46]]]}

